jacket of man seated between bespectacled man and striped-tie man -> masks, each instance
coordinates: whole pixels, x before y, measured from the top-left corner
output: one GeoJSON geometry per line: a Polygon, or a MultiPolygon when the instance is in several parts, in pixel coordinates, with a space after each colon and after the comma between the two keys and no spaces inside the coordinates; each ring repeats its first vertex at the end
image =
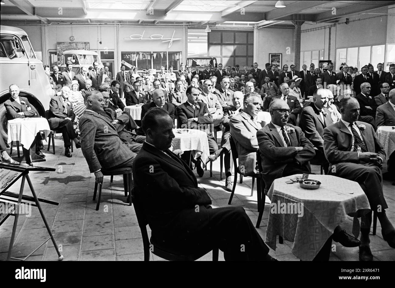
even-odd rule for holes
{"type": "Polygon", "coordinates": [[[322,111],[326,113],[324,116],[325,122],[322,122],[321,115],[318,112],[316,105],[313,102],[303,108],[300,114],[299,127],[305,133],[306,138],[318,148],[318,150],[324,151],[324,128],[333,124],[331,112],[326,108],[322,108],[322,111]]]}

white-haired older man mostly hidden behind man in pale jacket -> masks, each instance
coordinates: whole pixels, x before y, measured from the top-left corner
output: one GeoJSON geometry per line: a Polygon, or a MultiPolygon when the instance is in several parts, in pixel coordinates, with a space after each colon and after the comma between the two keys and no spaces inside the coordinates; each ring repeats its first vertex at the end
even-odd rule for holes
{"type": "MultiPolygon", "coordinates": [[[[230,126],[229,126],[229,121],[232,119],[233,116],[237,115],[243,109],[241,108],[241,104],[243,103],[243,92],[241,91],[236,91],[233,93],[232,96],[232,101],[233,101],[233,106],[228,106],[224,108],[224,116],[222,117],[222,137],[221,137],[221,147],[224,147],[225,143],[229,142],[229,136],[230,136],[230,126]]],[[[230,145],[229,145],[230,146],[230,145]]],[[[231,170],[231,165],[233,164],[233,160],[230,157],[230,149],[228,153],[224,154],[224,166],[225,166],[225,190],[231,192],[233,189],[233,183],[232,183],[232,170],[231,170]],[[232,163],[232,164],[231,164],[232,163]]]]}

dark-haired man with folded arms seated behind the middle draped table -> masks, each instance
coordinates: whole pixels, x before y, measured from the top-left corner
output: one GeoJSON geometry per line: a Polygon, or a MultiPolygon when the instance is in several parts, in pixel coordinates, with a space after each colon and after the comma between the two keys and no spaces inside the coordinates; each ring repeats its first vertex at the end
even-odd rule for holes
{"type": "MultiPolygon", "coordinates": [[[[181,128],[187,129],[198,129],[203,130],[207,133],[207,139],[209,141],[209,150],[210,154],[215,154],[218,151],[218,144],[214,139],[214,133],[211,131],[214,130],[214,127],[209,129],[209,126],[213,122],[213,116],[209,113],[209,109],[207,109],[207,105],[203,102],[199,101],[199,89],[195,87],[189,87],[186,89],[186,96],[188,100],[185,103],[176,107],[178,120],[181,125],[181,128]]],[[[188,159],[187,163],[189,163],[189,155],[188,153],[184,153],[182,156],[185,159],[188,159]],[[184,156],[185,154],[185,156],[184,156]]],[[[216,159],[218,156],[213,155],[212,158],[216,159]]],[[[204,171],[201,168],[200,158],[198,160],[192,159],[192,162],[196,164],[196,171],[200,177],[203,177],[204,171]]],[[[210,159],[211,160],[211,159],[210,159]]]]}

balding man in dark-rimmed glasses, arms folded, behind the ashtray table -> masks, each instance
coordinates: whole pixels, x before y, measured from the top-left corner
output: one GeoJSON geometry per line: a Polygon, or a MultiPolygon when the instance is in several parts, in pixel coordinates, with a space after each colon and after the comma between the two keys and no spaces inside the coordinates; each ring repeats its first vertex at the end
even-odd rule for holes
{"type": "Polygon", "coordinates": [[[269,106],[272,120],[256,133],[265,190],[277,178],[311,174],[309,161],[315,155],[314,147],[299,127],[288,124],[290,111],[285,101],[273,99],[269,106]]]}

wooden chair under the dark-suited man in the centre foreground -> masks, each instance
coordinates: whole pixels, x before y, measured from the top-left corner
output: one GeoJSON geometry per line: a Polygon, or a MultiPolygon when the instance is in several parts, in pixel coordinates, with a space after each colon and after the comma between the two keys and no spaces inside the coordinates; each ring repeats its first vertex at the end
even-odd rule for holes
{"type": "Polygon", "coordinates": [[[193,252],[186,252],[180,251],[177,249],[177,246],[171,247],[168,243],[165,244],[160,243],[160,241],[155,241],[152,236],[149,238],[147,233],[148,221],[142,208],[143,205],[139,195],[139,189],[136,186],[132,188],[131,195],[133,198],[133,206],[136,212],[137,222],[139,223],[141,235],[143,237],[144,261],[149,261],[150,251],[152,254],[169,261],[195,261],[209,253],[211,250],[213,250],[213,261],[218,261],[218,247],[200,247],[193,249],[193,252]]]}

